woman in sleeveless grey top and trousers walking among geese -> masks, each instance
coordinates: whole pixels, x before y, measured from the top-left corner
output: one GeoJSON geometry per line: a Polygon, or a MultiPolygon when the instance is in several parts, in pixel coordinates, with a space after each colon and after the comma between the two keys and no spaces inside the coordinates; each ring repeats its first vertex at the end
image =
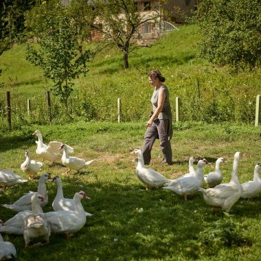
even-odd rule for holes
{"type": "Polygon", "coordinates": [[[155,88],[152,94],[152,115],[147,122],[147,131],[144,135],[142,153],[144,163],[150,164],[152,146],[155,139],[159,139],[163,160],[161,163],[172,165],[172,150],[170,139],[172,138],[172,112],[170,107],[170,94],[163,84],[165,78],[159,71],[149,71],[148,80],[155,88]]]}

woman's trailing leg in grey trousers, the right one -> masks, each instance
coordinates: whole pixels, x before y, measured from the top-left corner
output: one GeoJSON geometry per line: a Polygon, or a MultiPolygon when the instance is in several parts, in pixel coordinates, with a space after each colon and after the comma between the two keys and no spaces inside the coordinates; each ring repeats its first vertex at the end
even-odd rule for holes
{"type": "Polygon", "coordinates": [[[160,142],[163,157],[168,164],[172,164],[172,150],[171,150],[170,140],[168,139],[169,126],[170,126],[170,120],[168,119],[159,120],[159,122],[157,122],[159,142],[160,142]]]}

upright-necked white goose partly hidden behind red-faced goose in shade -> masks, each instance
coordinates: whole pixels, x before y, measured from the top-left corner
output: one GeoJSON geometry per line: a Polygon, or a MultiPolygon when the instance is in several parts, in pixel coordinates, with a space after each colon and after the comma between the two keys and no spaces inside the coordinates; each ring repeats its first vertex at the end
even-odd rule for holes
{"type": "MultiPolygon", "coordinates": [[[[56,197],[54,198],[54,201],[52,203],[52,207],[54,211],[70,211],[74,210],[76,208],[76,202],[73,200],[73,198],[64,198],[63,197],[63,185],[60,177],[56,176],[54,177],[53,181],[57,184],[57,193],[56,197]]],[[[89,198],[91,199],[91,198],[89,198]]],[[[92,214],[86,212],[86,216],[92,216],[92,214]]]]}

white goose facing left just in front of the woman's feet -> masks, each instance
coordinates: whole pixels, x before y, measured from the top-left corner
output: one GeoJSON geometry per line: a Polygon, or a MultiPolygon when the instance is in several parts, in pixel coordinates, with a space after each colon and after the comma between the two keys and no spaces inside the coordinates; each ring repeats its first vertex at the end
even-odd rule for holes
{"type": "Polygon", "coordinates": [[[159,174],[159,172],[153,170],[152,168],[145,168],[141,150],[135,148],[132,153],[138,155],[138,163],[136,168],[137,177],[142,183],[147,185],[149,190],[151,188],[161,187],[169,182],[169,180],[159,174]]]}

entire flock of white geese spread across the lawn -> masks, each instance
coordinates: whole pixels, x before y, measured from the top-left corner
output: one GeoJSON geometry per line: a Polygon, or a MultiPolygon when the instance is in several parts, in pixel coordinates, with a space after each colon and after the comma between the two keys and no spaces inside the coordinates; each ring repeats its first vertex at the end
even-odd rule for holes
{"type": "MultiPolygon", "coordinates": [[[[51,163],[57,161],[61,150],[63,150],[61,161],[64,166],[69,168],[66,173],[71,170],[79,172],[82,168],[93,163],[93,160],[85,161],[78,157],[70,157],[68,154],[73,152],[73,148],[67,144],[59,141],[51,141],[48,145],[43,144],[43,136],[40,131],[35,131],[33,135],[38,137],[36,155],[41,157],[42,161],[31,160],[30,152],[25,151],[25,161],[21,164],[21,170],[28,175],[28,179],[36,177],[43,166],[43,161],[51,163]]],[[[207,159],[197,161],[194,157],[190,157],[188,173],[172,180],[167,179],[152,168],[146,168],[140,149],[135,148],[133,153],[137,154],[137,178],[146,185],[148,190],[161,187],[183,196],[185,201],[188,200],[188,196],[201,192],[208,205],[219,207],[224,212],[229,212],[239,198],[251,199],[261,192],[260,163],[255,166],[253,181],[240,184],[238,179],[240,152],[236,152],[234,155],[231,180],[228,183],[222,183],[223,174],[220,170],[220,163],[227,162],[223,157],[216,160],[214,172],[205,175],[203,168],[209,164],[207,159]],[[193,164],[195,161],[197,161],[196,170],[193,164]],[[208,188],[203,188],[204,181],[208,188]]],[[[0,170],[0,186],[3,187],[3,191],[12,185],[25,182],[28,182],[28,180],[22,179],[11,170],[0,170]]],[[[43,173],[38,179],[37,191],[28,192],[12,204],[1,205],[11,209],[16,214],[5,222],[0,220],[0,233],[23,235],[25,247],[47,244],[52,232],[65,234],[69,238],[84,227],[87,216],[92,216],[82,206],[82,198],[90,199],[83,191],[76,192],[73,198],[65,198],[60,177],[51,177],[49,173],[43,173]],[[48,203],[46,182],[49,180],[57,185],[56,196],[52,202],[54,211],[43,212],[43,207],[48,203]]],[[[16,256],[14,245],[11,242],[4,242],[0,234],[0,260],[12,256],[16,256]]]]}

